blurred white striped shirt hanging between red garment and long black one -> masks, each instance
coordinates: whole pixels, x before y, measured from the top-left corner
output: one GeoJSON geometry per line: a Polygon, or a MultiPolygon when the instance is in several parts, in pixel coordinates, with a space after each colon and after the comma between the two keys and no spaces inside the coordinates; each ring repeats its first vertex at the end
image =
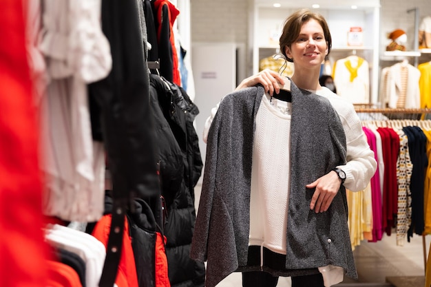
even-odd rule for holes
{"type": "Polygon", "coordinates": [[[43,0],[39,14],[44,33],[36,45],[48,75],[37,103],[45,176],[43,212],[85,222],[98,220],[103,213],[105,172],[103,145],[92,139],[90,131],[87,84],[107,76],[112,59],[98,21],[101,2],[78,0],[71,6],[67,2],[43,0]]]}

